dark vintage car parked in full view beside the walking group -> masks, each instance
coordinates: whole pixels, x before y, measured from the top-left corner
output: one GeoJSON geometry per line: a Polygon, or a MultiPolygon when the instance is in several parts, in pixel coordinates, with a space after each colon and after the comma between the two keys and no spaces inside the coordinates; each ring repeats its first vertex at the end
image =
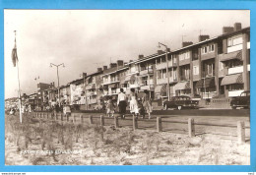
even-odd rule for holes
{"type": "Polygon", "coordinates": [[[170,100],[165,100],[162,102],[162,106],[165,110],[168,108],[182,109],[182,108],[198,108],[198,100],[192,100],[191,97],[181,95],[172,96],[170,100]]]}

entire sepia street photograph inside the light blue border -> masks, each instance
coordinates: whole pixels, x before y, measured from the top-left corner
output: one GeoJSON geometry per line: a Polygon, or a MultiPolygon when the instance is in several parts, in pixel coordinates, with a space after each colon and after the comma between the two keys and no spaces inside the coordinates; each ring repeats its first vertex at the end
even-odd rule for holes
{"type": "Polygon", "coordinates": [[[5,165],[250,165],[250,10],[4,10],[5,165]]]}

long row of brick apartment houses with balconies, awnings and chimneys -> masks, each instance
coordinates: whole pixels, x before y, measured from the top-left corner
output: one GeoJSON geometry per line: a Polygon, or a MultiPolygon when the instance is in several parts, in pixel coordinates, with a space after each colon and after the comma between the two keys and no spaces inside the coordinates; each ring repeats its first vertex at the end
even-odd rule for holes
{"type": "MultiPolygon", "coordinates": [[[[109,67],[97,68],[94,74],[83,73],[83,78],[60,87],[60,96],[71,104],[93,109],[106,95],[115,99],[120,88],[126,93],[135,88],[139,96],[148,89],[152,98],[162,99],[167,95],[167,81],[170,96],[221,102],[250,89],[250,28],[242,29],[235,23],[224,27],[221,35],[199,35],[198,39],[197,43],[183,42],[176,50],[158,50],[128,63],[118,60],[109,67]]],[[[54,83],[38,84],[38,92],[30,95],[30,101],[33,105],[47,104],[56,100],[57,94],[54,83]]]]}

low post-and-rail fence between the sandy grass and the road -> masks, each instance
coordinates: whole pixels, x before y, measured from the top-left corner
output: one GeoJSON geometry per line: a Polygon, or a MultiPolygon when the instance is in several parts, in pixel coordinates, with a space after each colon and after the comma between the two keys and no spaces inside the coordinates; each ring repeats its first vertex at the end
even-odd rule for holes
{"type": "MultiPolygon", "coordinates": [[[[27,116],[26,116],[27,117],[27,116]]],[[[237,143],[238,144],[245,144],[245,129],[250,129],[250,127],[245,126],[244,121],[238,121],[236,125],[230,125],[230,124],[218,124],[218,123],[205,123],[205,122],[195,122],[194,118],[188,118],[187,120],[173,120],[169,119],[168,117],[160,117],[158,116],[156,119],[150,119],[150,120],[145,120],[145,119],[138,119],[136,116],[132,116],[131,118],[126,117],[125,119],[119,120],[117,116],[113,117],[104,117],[103,115],[98,115],[98,116],[93,116],[92,114],[90,115],[85,115],[84,113],[71,113],[71,115],[64,115],[62,113],[49,113],[49,112],[32,112],[28,114],[29,118],[33,118],[33,123],[36,122],[41,122],[41,121],[56,121],[56,122],[61,122],[63,123],[73,123],[73,124],[87,124],[87,125],[99,125],[101,127],[103,126],[109,126],[109,125],[114,125],[114,128],[121,128],[122,127],[127,127],[127,123],[124,123],[125,121],[132,121],[132,129],[134,131],[145,129],[145,123],[146,125],[153,125],[155,130],[157,132],[169,132],[168,128],[166,128],[166,124],[175,124],[178,125],[178,128],[182,127],[183,134],[188,135],[188,137],[193,138],[196,135],[202,135],[202,134],[208,134],[206,133],[206,128],[207,127],[219,127],[224,128],[224,131],[226,133],[226,128],[236,128],[236,135],[235,137],[237,138],[237,143]],[[110,121],[110,122],[109,122],[110,121]],[[140,122],[140,123],[139,123],[140,122]],[[139,124],[144,123],[140,128],[139,124]],[[163,124],[164,123],[164,128],[163,124]],[[184,129],[184,125],[187,125],[187,129],[184,129]],[[196,131],[195,126],[200,126],[197,128],[201,128],[200,131],[196,131]],[[203,133],[202,131],[203,128],[203,133]]],[[[130,123],[130,122],[129,122],[130,123]]],[[[175,125],[172,125],[175,126],[175,125]]],[[[129,125],[128,125],[129,126],[129,125]]],[[[146,129],[148,129],[146,127],[146,129]]],[[[171,132],[173,132],[173,128],[171,128],[171,132]]],[[[224,133],[224,135],[225,135],[224,133]]],[[[214,134],[214,133],[211,133],[214,134]]],[[[220,135],[220,133],[218,133],[220,135]]],[[[222,134],[221,134],[222,135],[222,134]]]]}

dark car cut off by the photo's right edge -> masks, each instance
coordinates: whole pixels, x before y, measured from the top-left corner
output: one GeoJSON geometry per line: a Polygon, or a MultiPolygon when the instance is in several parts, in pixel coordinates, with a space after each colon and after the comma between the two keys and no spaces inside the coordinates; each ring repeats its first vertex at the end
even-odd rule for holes
{"type": "Polygon", "coordinates": [[[230,101],[230,106],[232,109],[237,107],[243,107],[246,109],[250,108],[250,91],[241,92],[240,96],[233,97],[230,101]]]}

